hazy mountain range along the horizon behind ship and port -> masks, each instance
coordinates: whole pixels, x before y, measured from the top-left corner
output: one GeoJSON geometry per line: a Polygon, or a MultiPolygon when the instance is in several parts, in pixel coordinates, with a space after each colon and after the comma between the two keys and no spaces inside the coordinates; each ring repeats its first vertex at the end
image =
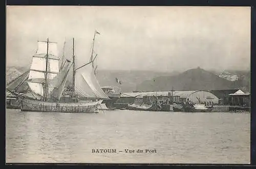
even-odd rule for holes
{"type": "MultiPolygon", "coordinates": [[[[8,66],[6,82],[9,83],[28,68],[8,66]]],[[[228,70],[220,73],[204,70],[200,67],[189,69],[183,73],[163,73],[147,70],[97,70],[96,77],[101,86],[119,86],[122,92],[168,91],[175,90],[218,90],[242,89],[250,91],[250,71],[228,70]],[[235,77],[235,78],[230,78],[235,77]],[[115,80],[118,78],[122,84],[115,80]]],[[[67,84],[72,82],[72,76],[67,84]]]]}

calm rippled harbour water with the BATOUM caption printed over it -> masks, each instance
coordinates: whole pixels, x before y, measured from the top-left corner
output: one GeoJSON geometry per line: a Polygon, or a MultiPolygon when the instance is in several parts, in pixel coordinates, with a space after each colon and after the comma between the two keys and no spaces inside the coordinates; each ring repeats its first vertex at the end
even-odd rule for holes
{"type": "Polygon", "coordinates": [[[250,113],[7,109],[6,162],[249,163],[250,113]]]}

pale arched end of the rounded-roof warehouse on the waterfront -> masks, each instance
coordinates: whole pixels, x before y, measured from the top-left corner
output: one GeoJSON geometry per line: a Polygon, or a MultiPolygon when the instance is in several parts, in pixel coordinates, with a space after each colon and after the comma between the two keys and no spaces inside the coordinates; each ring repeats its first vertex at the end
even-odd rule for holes
{"type": "Polygon", "coordinates": [[[199,104],[199,101],[198,99],[200,99],[201,103],[214,103],[214,104],[219,104],[219,98],[217,98],[216,95],[212,94],[211,92],[209,91],[203,91],[203,90],[199,90],[199,91],[196,91],[192,94],[190,94],[187,98],[189,99],[189,101],[195,103],[195,104],[199,104]]]}

